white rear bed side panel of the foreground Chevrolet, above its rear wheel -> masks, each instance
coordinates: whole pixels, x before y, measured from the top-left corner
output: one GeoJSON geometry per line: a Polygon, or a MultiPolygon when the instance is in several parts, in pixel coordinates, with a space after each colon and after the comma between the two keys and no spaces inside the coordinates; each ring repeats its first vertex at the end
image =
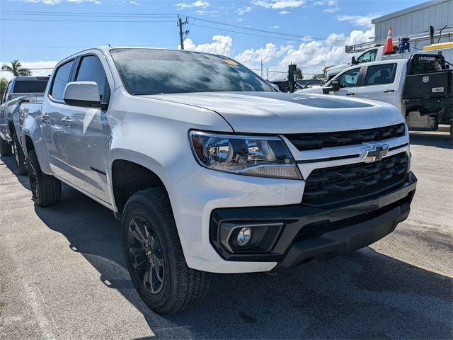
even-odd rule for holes
{"type": "Polygon", "coordinates": [[[21,107],[20,115],[23,117],[21,142],[23,145],[23,152],[25,157],[27,157],[30,150],[26,138],[30,137],[33,142],[33,147],[35,148],[36,156],[40,162],[42,172],[51,175],[52,169],[50,169],[49,153],[47,152],[45,138],[44,135],[42,135],[40,126],[40,113],[40,104],[30,103],[21,107]],[[39,108],[33,106],[39,106],[39,108]]]}

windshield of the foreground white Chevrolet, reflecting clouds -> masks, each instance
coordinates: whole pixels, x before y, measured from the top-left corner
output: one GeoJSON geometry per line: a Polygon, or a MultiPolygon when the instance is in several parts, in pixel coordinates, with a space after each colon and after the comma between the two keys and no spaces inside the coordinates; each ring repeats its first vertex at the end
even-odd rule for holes
{"type": "Polygon", "coordinates": [[[130,94],[275,91],[253,71],[227,57],[177,50],[110,51],[130,94]]]}

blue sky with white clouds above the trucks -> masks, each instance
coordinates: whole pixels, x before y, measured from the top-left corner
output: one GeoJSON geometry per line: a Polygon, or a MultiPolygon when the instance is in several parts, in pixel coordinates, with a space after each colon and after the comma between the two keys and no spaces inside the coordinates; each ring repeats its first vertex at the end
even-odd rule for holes
{"type": "MultiPolygon", "coordinates": [[[[344,45],[369,41],[371,18],[421,2],[0,0],[0,62],[18,59],[27,67],[52,67],[84,47],[108,44],[177,48],[180,14],[190,17],[186,49],[229,55],[253,68],[260,68],[263,60],[264,67],[282,71],[295,62],[310,74],[350,59],[343,53],[344,45]]],[[[35,74],[43,72],[49,71],[35,74]]]]}

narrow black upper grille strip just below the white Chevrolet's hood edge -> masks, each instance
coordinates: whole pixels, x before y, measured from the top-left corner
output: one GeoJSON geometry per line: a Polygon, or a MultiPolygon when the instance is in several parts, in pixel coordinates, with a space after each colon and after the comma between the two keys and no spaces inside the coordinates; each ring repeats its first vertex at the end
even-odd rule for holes
{"type": "Polygon", "coordinates": [[[299,151],[376,142],[404,135],[404,123],[367,130],[304,133],[285,135],[299,151]]]}

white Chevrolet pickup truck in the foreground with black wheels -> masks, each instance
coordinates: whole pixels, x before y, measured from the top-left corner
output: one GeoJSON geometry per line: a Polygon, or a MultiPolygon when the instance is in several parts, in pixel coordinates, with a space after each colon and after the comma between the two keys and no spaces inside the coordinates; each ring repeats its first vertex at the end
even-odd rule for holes
{"type": "Polygon", "coordinates": [[[372,244],[415,193],[394,106],[283,94],[219,55],[84,50],[21,110],[35,204],[66,183],[113,210],[160,313],[200,300],[209,273],[275,275],[372,244]]]}

